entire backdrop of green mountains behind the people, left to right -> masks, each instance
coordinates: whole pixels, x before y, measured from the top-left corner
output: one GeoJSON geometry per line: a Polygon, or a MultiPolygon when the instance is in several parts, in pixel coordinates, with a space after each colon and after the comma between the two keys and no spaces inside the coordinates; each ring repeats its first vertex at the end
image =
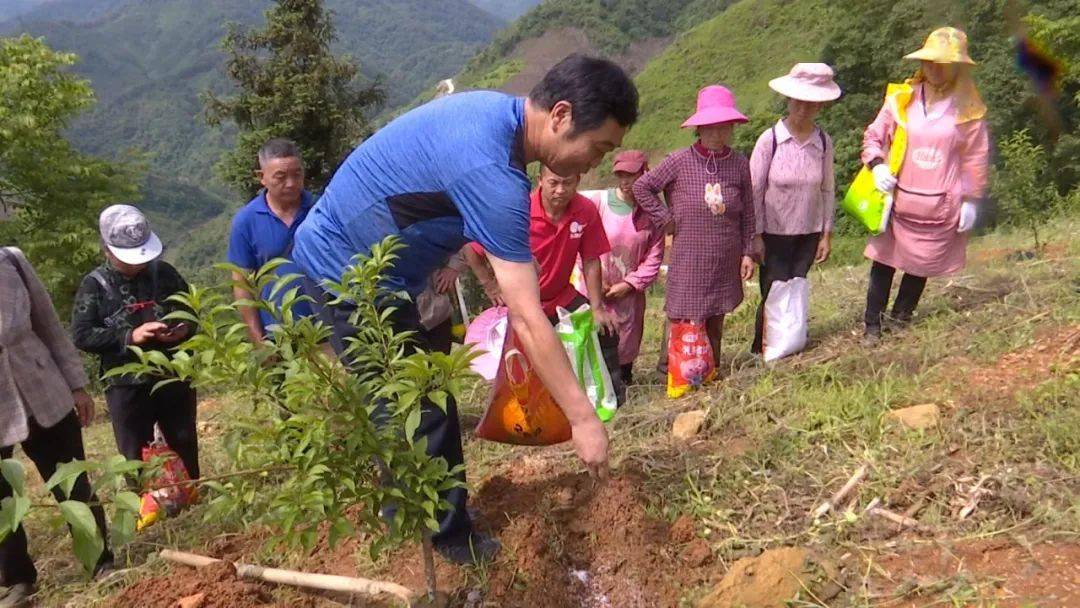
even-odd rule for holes
{"type": "MultiPolygon", "coordinates": [[[[211,166],[229,133],[204,126],[198,93],[220,91],[224,24],[255,24],[270,0],[0,0],[0,35],[29,31],[78,53],[99,104],[75,125],[84,150],[106,156],[135,149],[151,154],[154,177],[145,204],[180,242],[190,267],[220,259],[227,221],[240,201],[215,188],[211,166]],[[162,194],[170,185],[183,185],[162,194]],[[207,186],[210,185],[210,186],[207,186]],[[226,202],[228,201],[228,202],[226,202]],[[205,227],[205,230],[194,230],[205,227]]],[[[1062,18],[1075,0],[1031,0],[1028,11],[1062,18]]],[[[751,118],[735,132],[748,153],[762,130],[783,112],[768,81],[798,62],[825,62],[845,96],[819,123],[836,143],[837,183],[858,168],[863,127],[881,103],[887,82],[912,75],[903,55],[942,25],[967,30],[978,60],[975,78],[998,137],[1045,125],[1032,111],[1034,91],[1015,68],[1007,18],[1010,0],[928,3],[923,0],[326,0],[335,12],[337,50],[355,56],[368,79],[381,79],[388,104],[379,120],[431,98],[438,80],[458,91],[500,89],[526,94],[569,53],[599,54],[630,71],[642,99],[640,120],[625,145],[654,162],[692,140],[678,124],[697,91],[729,86],[751,118]],[[516,17],[516,18],[515,18],[516,17]],[[510,19],[513,19],[512,22],[510,19]]],[[[1067,129],[1053,152],[1061,187],[1077,181],[1080,120],[1075,91],[1063,92],[1067,129]],[[1068,181],[1066,184],[1065,181],[1068,181]]],[[[606,179],[608,166],[589,176],[606,179]]]]}

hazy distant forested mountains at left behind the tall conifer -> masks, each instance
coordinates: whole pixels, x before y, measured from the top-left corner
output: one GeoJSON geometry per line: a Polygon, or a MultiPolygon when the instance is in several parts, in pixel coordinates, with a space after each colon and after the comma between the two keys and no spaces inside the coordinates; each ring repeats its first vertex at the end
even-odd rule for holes
{"type": "MultiPolygon", "coordinates": [[[[79,55],[97,104],[76,121],[75,145],[104,157],[146,154],[144,204],[163,235],[179,237],[237,204],[212,167],[228,133],[202,118],[200,92],[226,86],[226,24],[261,24],[270,0],[0,0],[0,36],[42,36],[79,55]],[[18,5],[16,5],[18,4],[18,5]]],[[[386,84],[387,104],[454,75],[505,25],[465,0],[327,0],[338,52],[386,84]]]]}

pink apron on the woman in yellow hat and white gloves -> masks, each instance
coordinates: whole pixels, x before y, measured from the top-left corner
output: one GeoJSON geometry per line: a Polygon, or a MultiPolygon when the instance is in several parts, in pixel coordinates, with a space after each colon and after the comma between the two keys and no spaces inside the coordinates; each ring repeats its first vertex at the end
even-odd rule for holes
{"type": "Polygon", "coordinates": [[[907,153],[897,176],[888,229],[873,237],[866,257],[916,276],[940,276],[963,268],[967,237],[957,232],[967,147],[947,107],[923,111],[921,87],[908,107],[907,153]]]}

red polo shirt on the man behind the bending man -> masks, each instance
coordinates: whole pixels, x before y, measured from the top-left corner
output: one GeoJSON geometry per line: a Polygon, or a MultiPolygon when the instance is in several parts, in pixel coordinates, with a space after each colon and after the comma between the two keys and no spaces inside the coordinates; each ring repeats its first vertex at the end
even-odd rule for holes
{"type": "MultiPolygon", "coordinates": [[[[483,253],[478,243],[472,246],[483,253]]],[[[540,265],[540,303],[549,316],[555,314],[556,307],[566,307],[578,296],[570,284],[578,256],[585,261],[611,251],[592,201],[575,194],[563,217],[553,222],[540,202],[539,188],[529,197],[529,246],[540,265]]]]}

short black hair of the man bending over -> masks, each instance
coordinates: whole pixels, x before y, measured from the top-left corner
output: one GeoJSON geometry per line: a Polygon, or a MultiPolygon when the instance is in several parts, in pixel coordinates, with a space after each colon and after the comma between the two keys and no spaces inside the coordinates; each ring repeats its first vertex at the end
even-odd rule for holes
{"type": "Polygon", "coordinates": [[[637,122],[637,87],[618,65],[573,54],[548,70],[529,99],[545,110],[559,102],[573,106],[573,131],[599,129],[611,118],[622,126],[637,122]]]}

